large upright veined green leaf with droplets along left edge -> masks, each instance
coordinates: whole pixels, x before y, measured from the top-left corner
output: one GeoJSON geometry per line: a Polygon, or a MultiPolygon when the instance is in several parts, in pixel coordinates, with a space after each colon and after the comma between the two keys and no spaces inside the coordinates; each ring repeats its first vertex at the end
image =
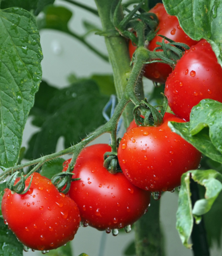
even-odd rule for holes
{"type": "Polygon", "coordinates": [[[17,7],[0,10],[0,165],[17,163],[22,133],[41,81],[43,59],[35,18],[17,7]]]}

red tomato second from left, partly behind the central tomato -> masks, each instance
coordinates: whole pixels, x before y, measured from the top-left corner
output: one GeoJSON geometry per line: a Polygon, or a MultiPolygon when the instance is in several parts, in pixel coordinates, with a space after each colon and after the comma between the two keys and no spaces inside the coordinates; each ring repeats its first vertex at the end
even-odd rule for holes
{"type": "MultiPolygon", "coordinates": [[[[150,192],[130,183],[123,175],[112,175],[103,167],[107,144],[85,147],[80,153],[73,172],[69,196],[75,199],[84,225],[104,230],[123,228],[134,223],[146,211],[150,192]]],[[[70,160],[64,162],[67,170],[70,160]]]]}

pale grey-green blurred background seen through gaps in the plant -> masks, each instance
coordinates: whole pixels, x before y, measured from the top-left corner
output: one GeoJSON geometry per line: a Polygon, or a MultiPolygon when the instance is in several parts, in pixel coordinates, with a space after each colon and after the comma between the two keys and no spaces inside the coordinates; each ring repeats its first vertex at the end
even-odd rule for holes
{"type": "MultiPolygon", "coordinates": [[[[82,0],[82,4],[86,4],[96,9],[93,0],[82,0]]],[[[68,23],[71,31],[82,35],[85,31],[83,21],[88,21],[95,27],[101,28],[101,23],[96,15],[86,12],[80,7],[73,6],[65,0],[55,0],[56,6],[68,7],[72,10],[72,18],[68,23]]],[[[40,14],[41,15],[41,14],[40,14]]],[[[91,33],[87,41],[99,51],[107,55],[104,38],[91,33]]],[[[43,80],[56,88],[64,88],[70,81],[81,77],[91,77],[95,74],[111,74],[112,68],[109,62],[105,62],[94,52],[84,46],[77,39],[65,33],[44,29],[41,30],[41,46],[43,48],[43,80]]],[[[144,88],[146,93],[152,89],[152,82],[144,79],[144,88]]],[[[27,147],[28,139],[31,134],[39,130],[38,127],[31,125],[32,117],[28,118],[27,125],[23,134],[23,145],[27,147]]],[[[62,123],[61,123],[62,126],[62,123]]],[[[123,128],[120,131],[124,133],[123,128]]],[[[109,135],[104,134],[93,143],[108,143],[109,135]]],[[[60,151],[64,148],[64,138],[59,138],[56,150],[60,151]]],[[[67,157],[68,158],[68,157],[67,157]]],[[[67,159],[66,158],[66,159],[67,159]]],[[[181,244],[178,232],[176,231],[176,210],[178,205],[178,192],[165,192],[161,198],[161,224],[165,237],[165,256],[191,256],[192,251],[185,249],[181,244]]],[[[151,205],[152,207],[152,205],[151,205]]],[[[149,230],[147,230],[149,232],[149,230]]],[[[130,234],[119,233],[117,237],[112,234],[106,234],[105,231],[97,231],[96,229],[80,227],[75,239],[72,241],[73,255],[77,256],[81,253],[89,256],[111,256],[111,255],[134,255],[131,250],[127,250],[128,246],[133,242],[134,232],[130,234]]],[[[41,252],[24,252],[23,255],[41,255],[41,252]]],[[[59,255],[59,254],[58,254],[59,255]]],[[[61,254],[62,255],[62,254],[61,254]]],[[[213,256],[221,255],[220,252],[212,250],[213,256]]]]}

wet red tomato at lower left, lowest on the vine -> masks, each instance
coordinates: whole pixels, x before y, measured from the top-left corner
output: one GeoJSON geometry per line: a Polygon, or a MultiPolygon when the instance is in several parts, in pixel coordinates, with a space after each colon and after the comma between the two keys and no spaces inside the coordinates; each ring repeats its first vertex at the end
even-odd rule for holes
{"type": "MultiPolygon", "coordinates": [[[[26,188],[30,179],[25,181],[26,188]]],[[[1,207],[5,223],[19,241],[35,250],[63,246],[74,238],[80,225],[76,203],[39,173],[33,174],[31,187],[23,195],[5,189],[1,207]]]]}

